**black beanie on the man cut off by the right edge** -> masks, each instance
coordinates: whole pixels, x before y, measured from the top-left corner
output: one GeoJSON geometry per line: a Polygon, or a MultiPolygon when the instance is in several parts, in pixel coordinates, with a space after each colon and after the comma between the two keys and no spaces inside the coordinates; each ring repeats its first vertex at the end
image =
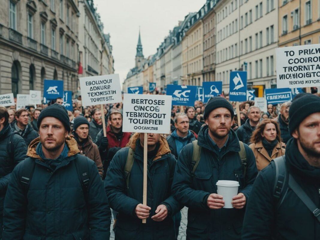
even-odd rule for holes
{"type": "Polygon", "coordinates": [[[295,98],[289,108],[289,133],[300,125],[300,123],[309,115],[320,112],[320,97],[311,93],[304,93],[295,98]]]}

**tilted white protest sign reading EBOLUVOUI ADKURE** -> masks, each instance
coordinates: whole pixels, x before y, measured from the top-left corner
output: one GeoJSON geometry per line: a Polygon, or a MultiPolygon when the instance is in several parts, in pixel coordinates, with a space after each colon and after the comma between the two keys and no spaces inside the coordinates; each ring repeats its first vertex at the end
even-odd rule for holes
{"type": "Polygon", "coordinates": [[[83,106],[122,102],[119,74],[80,77],[83,106]]]}

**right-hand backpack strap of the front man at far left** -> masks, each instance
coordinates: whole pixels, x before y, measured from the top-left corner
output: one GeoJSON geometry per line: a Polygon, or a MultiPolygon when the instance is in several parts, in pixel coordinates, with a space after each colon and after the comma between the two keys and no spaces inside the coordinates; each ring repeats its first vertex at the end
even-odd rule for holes
{"type": "Polygon", "coordinates": [[[78,173],[78,177],[81,183],[81,187],[84,193],[84,200],[88,202],[88,187],[90,183],[89,178],[89,166],[88,166],[88,159],[86,156],[81,154],[77,154],[75,159],[76,171],[78,173]]]}

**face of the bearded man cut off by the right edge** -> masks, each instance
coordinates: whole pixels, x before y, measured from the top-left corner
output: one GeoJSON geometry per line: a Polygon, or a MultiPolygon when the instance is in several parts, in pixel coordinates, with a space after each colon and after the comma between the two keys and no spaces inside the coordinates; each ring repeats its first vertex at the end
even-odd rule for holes
{"type": "Polygon", "coordinates": [[[307,116],[293,131],[292,137],[308,156],[318,157],[320,162],[320,113],[307,116]]]}

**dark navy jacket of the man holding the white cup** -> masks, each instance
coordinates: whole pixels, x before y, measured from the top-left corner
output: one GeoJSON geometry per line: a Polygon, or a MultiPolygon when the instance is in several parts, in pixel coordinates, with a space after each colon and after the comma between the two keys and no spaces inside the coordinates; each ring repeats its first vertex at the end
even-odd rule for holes
{"type": "Polygon", "coordinates": [[[236,133],[230,130],[227,145],[220,152],[209,138],[208,126],[203,126],[198,135],[198,145],[202,147],[201,158],[193,177],[193,144],[189,143],[182,149],[174,173],[172,191],[174,197],[188,207],[187,239],[240,239],[244,209],[210,210],[207,199],[211,193],[217,193],[218,180],[234,180],[239,182],[238,191],[248,201],[258,173],[255,158],[252,150],[244,145],[247,156],[244,177],[236,133]]]}

